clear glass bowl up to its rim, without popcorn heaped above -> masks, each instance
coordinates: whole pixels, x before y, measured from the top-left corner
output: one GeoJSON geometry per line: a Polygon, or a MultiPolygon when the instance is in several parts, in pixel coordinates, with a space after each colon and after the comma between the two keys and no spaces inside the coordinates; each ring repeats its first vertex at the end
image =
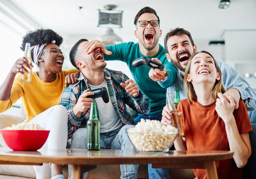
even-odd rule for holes
{"type": "Polygon", "coordinates": [[[131,132],[129,129],[126,129],[126,133],[138,152],[168,152],[178,134],[177,131],[131,132]]]}

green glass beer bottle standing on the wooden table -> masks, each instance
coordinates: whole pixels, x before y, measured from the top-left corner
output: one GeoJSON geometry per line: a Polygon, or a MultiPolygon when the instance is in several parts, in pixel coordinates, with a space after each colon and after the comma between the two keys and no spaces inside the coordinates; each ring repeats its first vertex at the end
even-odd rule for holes
{"type": "Polygon", "coordinates": [[[87,131],[87,149],[100,150],[100,121],[95,100],[93,100],[91,105],[90,117],[87,121],[87,131]]]}

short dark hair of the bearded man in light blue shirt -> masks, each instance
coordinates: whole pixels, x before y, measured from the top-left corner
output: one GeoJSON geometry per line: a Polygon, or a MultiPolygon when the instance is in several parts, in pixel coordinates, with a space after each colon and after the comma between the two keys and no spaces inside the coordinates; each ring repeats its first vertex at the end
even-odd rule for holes
{"type": "Polygon", "coordinates": [[[164,49],[165,49],[165,53],[166,53],[166,54],[168,54],[168,47],[167,47],[167,40],[168,40],[168,38],[170,38],[170,37],[172,37],[172,36],[182,36],[182,35],[184,35],[184,34],[186,34],[186,35],[189,37],[189,39],[190,39],[191,44],[193,45],[193,47],[195,46],[195,43],[194,43],[194,41],[193,41],[193,38],[192,38],[190,32],[189,32],[189,31],[186,31],[186,30],[183,29],[183,28],[177,27],[177,28],[175,28],[175,29],[170,29],[170,32],[168,32],[168,33],[166,34],[165,38],[164,38],[164,49]]]}

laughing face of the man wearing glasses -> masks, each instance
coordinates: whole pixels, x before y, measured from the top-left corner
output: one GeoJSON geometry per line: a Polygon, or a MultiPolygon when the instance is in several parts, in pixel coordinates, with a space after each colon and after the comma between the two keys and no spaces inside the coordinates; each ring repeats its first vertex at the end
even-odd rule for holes
{"type": "Polygon", "coordinates": [[[143,13],[138,18],[138,24],[136,26],[136,31],[134,32],[136,38],[139,39],[139,44],[143,45],[146,50],[152,50],[158,44],[158,40],[162,35],[162,31],[159,25],[153,27],[155,25],[151,25],[148,23],[145,27],[141,27],[140,21],[151,21],[151,20],[158,20],[154,13],[143,13]]]}

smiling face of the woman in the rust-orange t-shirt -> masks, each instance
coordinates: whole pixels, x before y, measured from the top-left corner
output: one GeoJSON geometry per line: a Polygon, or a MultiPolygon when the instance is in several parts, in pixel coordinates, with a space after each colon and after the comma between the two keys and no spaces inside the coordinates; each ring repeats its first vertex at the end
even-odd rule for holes
{"type": "Polygon", "coordinates": [[[211,55],[198,53],[191,59],[187,80],[193,84],[207,82],[212,86],[216,80],[220,80],[220,73],[218,73],[211,55]]]}

